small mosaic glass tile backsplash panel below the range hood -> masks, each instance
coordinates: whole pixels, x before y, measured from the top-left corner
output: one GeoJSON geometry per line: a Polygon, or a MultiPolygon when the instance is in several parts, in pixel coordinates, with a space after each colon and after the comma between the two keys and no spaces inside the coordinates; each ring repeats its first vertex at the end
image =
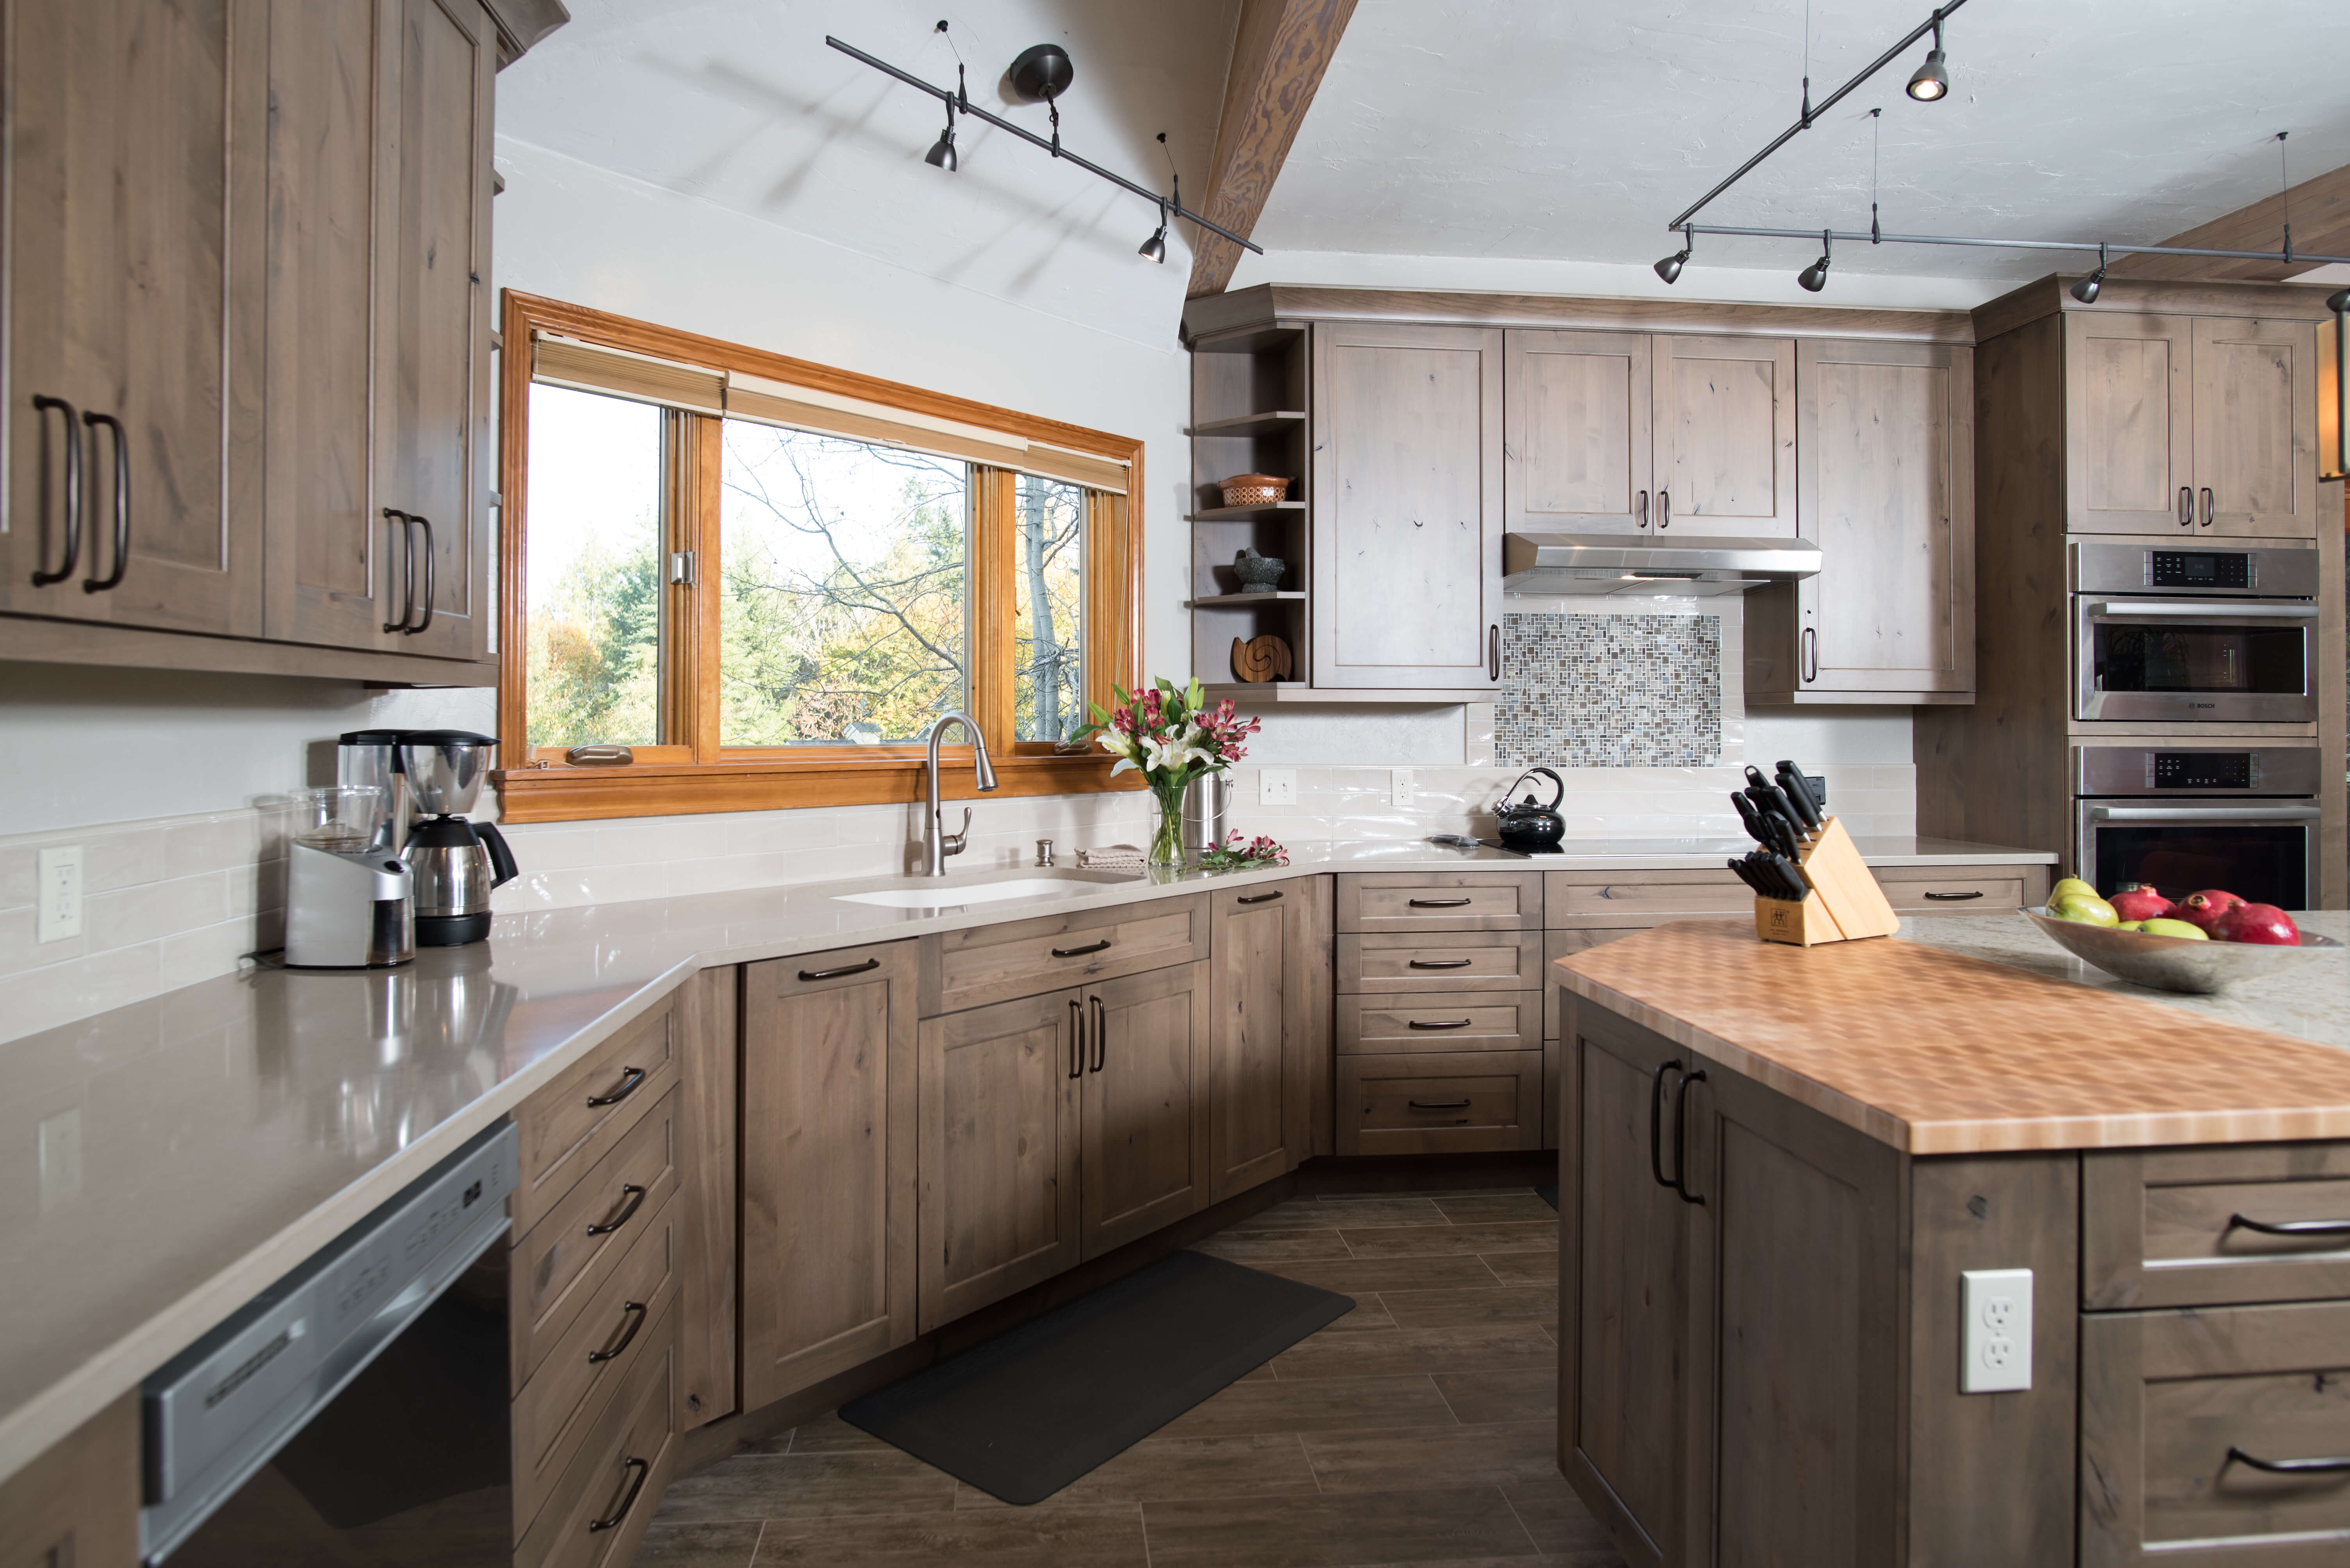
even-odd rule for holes
{"type": "Polygon", "coordinates": [[[1502,615],[1502,768],[1713,768],[1718,615],[1502,615]]]}

